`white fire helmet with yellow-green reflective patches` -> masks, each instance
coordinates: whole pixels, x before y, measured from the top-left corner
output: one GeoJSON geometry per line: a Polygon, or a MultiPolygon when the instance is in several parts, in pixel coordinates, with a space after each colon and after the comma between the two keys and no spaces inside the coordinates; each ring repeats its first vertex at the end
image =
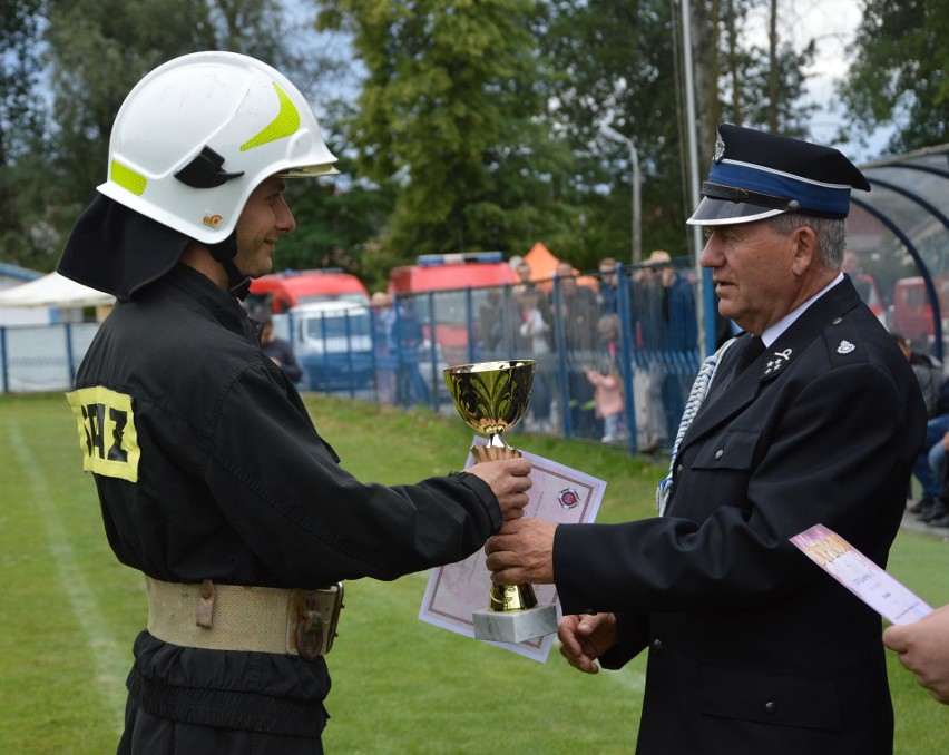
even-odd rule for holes
{"type": "Polygon", "coordinates": [[[126,97],[98,190],[204,244],[226,239],[273,175],[339,173],[300,90],[235,52],[195,52],[148,73],[126,97]]]}

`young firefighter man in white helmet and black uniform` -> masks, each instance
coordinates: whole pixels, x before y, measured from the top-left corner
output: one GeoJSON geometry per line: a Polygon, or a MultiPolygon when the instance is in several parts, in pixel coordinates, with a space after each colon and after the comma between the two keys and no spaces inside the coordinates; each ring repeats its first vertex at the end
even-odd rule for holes
{"type": "Polygon", "coordinates": [[[458,561],[527,503],[522,459],[360,482],[262,352],[235,296],[294,228],[284,182],[334,161],[278,71],[177,58],[123,104],[60,261],[118,298],[68,399],[109,543],[147,578],[120,753],[322,752],[336,584],[458,561]]]}

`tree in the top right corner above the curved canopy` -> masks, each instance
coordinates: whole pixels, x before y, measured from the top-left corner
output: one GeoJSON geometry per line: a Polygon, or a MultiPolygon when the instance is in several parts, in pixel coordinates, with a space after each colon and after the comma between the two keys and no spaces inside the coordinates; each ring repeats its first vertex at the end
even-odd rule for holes
{"type": "Polygon", "coordinates": [[[867,0],[850,75],[838,91],[851,134],[894,126],[889,151],[946,141],[949,120],[949,3],[867,0]]]}

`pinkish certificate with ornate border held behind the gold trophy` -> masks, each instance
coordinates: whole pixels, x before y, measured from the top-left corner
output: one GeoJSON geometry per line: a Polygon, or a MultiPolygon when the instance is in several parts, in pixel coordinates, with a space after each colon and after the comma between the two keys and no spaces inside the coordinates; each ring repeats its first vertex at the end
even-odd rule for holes
{"type": "MultiPolygon", "coordinates": [[[[477,438],[476,445],[485,443],[477,438]]],[[[524,516],[546,519],[562,524],[593,522],[599,510],[606,482],[589,474],[522,452],[530,461],[532,486],[528,491],[528,503],[524,516]]],[[[473,463],[469,454],[466,469],[473,463]]],[[[536,585],[538,605],[557,605],[557,588],[554,585],[536,585]]],[[[419,618],[443,629],[474,637],[471,614],[488,608],[491,590],[491,572],[485,566],[485,550],[479,548],[463,561],[432,569],[429,584],[419,610],[419,618]]],[[[557,606],[557,616],[560,608],[557,606]]],[[[537,637],[517,645],[489,643],[518,655],[545,663],[554,644],[555,635],[537,637]]]]}

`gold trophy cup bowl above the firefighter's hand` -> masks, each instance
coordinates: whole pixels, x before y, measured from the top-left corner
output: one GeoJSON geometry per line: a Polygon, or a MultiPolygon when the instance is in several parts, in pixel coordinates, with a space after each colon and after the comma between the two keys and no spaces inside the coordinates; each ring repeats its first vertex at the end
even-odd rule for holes
{"type": "Polygon", "coordinates": [[[477,461],[520,455],[503,435],[527,412],[534,369],[534,360],[510,360],[460,364],[444,370],[448,392],[461,419],[488,438],[487,445],[471,449],[477,461]]]}

